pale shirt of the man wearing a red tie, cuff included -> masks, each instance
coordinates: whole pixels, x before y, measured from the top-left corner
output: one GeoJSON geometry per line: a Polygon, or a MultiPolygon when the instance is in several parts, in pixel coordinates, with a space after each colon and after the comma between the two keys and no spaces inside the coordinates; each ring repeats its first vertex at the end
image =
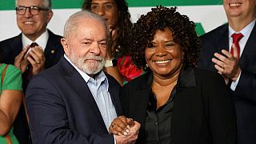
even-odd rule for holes
{"type": "MultiPolygon", "coordinates": [[[[232,43],[233,43],[233,38],[231,37],[232,34],[234,33],[241,33],[243,35],[243,37],[240,39],[240,41],[238,42],[239,43],[239,46],[240,46],[240,58],[241,58],[241,55],[242,55],[242,52],[246,46],[246,42],[248,41],[248,38],[250,37],[250,33],[251,31],[253,30],[254,28],[254,25],[255,25],[255,20],[250,22],[249,25],[247,25],[246,27],[244,27],[241,31],[234,31],[230,26],[229,26],[229,38],[230,38],[230,47],[229,47],[229,50],[231,50],[231,46],[232,46],[232,43]]],[[[241,72],[242,73],[242,72],[241,72]]],[[[231,90],[235,90],[235,88],[238,86],[238,82],[239,82],[239,79],[240,79],[240,76],[241,76],[241,73],[239,74],[238,76],[238,79],[234,82],[231,83],[231,86],[230,86],[230,89],[231,90]]]]}

